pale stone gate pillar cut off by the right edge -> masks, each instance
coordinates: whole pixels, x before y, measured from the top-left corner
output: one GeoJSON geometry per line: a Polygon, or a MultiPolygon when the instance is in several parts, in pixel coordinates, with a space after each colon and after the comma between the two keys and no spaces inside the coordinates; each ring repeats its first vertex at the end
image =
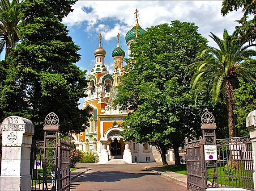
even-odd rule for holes
{"type": "Polygon", "coordinates": [[[254,165],[254,172],[253,172],[253,183],[254,183],[254,190],[256,190],[256,110],[250,112],[246,118],[246,127],[249,130],[250,138],[252,141],[252,158],[253,158],[253,165],[254,165]]]}

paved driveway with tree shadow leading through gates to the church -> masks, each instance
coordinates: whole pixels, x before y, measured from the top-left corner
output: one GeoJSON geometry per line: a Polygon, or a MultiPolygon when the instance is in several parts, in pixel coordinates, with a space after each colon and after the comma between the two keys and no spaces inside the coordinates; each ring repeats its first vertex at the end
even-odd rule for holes
{"type": "MultiPolygon", "coordinates": [[[[159,162],[133,164],[77,164],[73,172],[72,191],[187,191],[183,180],[156,170],[159,162]],[[147,168],[145,168],[147,166],[147,168]],[[149,169],[152,167],[152,169],[149,169]],[[87,170],[83,173],[83,171],[87,170]],[[80,171],[80,172],[78,172],[80,171]],[[158,172],[158,174],[156,173],[158,172]],[[76,175],[74,175],[77,173],[76,175]],[[80,174],[80,175],[79,175],[80,174]],[[159,174],[165,174],[161,176],[159,174]],[[78,175],[78,176],[77,176],[78,175]],[[77,177],[76,177],[77,176],[77,177]],[[170,179],[171,177],[171,179],[170,179]],[[173,179],[174,178],[174,179],[173,179]]],[[[177,173],[174,173],[177,174],[177,173]]],[[[185,176],[185,175],[184,175],[185,176]]],[[[186,176],[185,176],[186,177],[186,176]]],[[[183,177],[184,178],[184,177],[183,177]]]]}

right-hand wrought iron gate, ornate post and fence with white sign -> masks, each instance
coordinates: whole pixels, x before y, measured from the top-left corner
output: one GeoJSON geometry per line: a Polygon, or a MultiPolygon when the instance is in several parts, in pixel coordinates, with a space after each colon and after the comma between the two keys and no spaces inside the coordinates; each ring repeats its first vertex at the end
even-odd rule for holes
{"type": "Polygon", "coordinates": [[[206,110],[201,120],[203,138],[188,142],[186,137],[188,189],[237,187],[253,191],[255,166],[250,137],[216,139],[212,113],[206,110]],[[209,147],[213,149],[207,154],[204,149],[209,147]]]}

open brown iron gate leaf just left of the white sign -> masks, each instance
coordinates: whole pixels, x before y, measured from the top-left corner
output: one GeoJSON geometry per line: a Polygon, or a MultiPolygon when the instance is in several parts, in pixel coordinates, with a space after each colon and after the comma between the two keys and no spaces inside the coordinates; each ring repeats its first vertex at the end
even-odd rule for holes
{"type": "Polygon", "coordinates": [[[187,153],[187,187],[191,190],[205,190],[205,174],[204,174],[204,149],[203,139],[190,140],[186,137],[186,153],[187,153]]]}

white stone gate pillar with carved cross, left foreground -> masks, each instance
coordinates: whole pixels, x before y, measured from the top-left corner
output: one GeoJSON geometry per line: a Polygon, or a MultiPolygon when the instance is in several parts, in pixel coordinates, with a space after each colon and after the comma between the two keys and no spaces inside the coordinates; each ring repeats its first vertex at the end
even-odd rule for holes
{"type": "Polygon", "coordinates": [[[1,191],[30,191],[30,146],[34,125],[26,118],[9,116],[1,124],[1,191]]]}

